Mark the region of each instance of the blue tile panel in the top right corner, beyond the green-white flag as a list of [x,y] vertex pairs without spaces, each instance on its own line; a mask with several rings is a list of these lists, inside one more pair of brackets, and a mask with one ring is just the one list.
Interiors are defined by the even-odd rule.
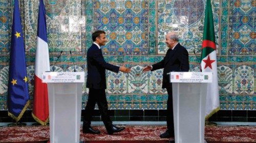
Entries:
[[230,1],[229,54],[255,55],[255,1]]

